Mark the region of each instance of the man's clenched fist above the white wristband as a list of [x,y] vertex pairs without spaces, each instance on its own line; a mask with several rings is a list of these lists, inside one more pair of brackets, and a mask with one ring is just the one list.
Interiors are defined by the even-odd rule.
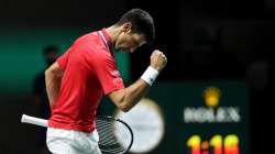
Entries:
[[151,55],[150,66],[161,72],[167,64],[167,57],[158,50],[155,50]]

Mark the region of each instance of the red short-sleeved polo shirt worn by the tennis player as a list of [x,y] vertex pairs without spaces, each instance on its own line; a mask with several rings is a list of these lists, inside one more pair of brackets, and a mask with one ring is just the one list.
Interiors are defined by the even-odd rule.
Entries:
[[103,29],[79,37],[57,59],[64,76],[52,107],[51,128],[95,130],[96,111],[102,96],[124,88],[109,47],[112,44]]

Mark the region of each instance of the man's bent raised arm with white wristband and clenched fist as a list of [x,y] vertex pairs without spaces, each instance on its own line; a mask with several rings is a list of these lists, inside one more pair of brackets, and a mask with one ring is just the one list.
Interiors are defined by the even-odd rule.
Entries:
[[147,94],[150,86],[153,84],[156,76],[162,72],[166,64],[166,56],[160,51],[154,51],[151,55],[150,67],[142,75],[142,77],[129,87],[111,92],[109,98],[122,111],[129,111],[140,101],[142,97]]

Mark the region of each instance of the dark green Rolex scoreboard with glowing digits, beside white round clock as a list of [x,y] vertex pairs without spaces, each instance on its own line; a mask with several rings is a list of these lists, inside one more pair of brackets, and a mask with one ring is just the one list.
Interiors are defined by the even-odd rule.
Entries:
[[165,116],[166,141],[155,153],[250,154],[244,81],[158,82],[148,97]]

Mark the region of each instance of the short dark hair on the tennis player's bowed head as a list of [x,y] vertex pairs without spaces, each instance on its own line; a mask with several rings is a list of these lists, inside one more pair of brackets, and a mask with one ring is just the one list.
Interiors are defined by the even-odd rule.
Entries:
[[122,25],[125,22],[131,22],[134,33],[144,34],[145,41],[152,44],[155,38],[155,25],[153,18],[144,10],[132,9],[124,13],[117,25]]

